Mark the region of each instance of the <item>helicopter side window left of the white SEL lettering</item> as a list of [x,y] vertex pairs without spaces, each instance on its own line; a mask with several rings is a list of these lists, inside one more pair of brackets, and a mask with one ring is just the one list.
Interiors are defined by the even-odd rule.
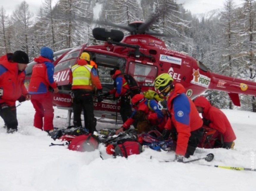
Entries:
[[157,67],[130,62],[128,73],[131,74],[141,86],[154,86],[154,80],[157,76]]

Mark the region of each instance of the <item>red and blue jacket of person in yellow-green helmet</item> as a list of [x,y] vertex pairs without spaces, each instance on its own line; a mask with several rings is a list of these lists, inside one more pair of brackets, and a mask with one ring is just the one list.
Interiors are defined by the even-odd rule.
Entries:
[[176,128],[178,137],[175,152],[185,156],[188,139],[191,135],[190,132],[201,128],[203,121],[197,112],[195,104],[185,94],[185,88],[182,84],[176,83],[174,85],[174,90],[168,96],[167,107],[171,116],[166,123],[165,129]]

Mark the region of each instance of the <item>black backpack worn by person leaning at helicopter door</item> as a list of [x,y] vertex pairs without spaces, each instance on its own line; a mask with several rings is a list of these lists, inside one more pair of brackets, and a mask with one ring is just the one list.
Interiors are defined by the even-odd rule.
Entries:
[[128,84],[128,86],[129,86],[129,90],[127,90],[127,93],[126,93],[127,95],[130,95],[132,98],[134,95],[141,93],[141,87],[138,84],[138,82],[132,77],[132,75],[127,74],[127,73],[121,73],[119,75],[124,76],[124,79],[126,81],[123,84],[123,86],[126,84]]

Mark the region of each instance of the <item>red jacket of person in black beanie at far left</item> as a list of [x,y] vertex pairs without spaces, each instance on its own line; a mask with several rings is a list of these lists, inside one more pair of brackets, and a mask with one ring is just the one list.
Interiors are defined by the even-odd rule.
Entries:
[[14,106],[21,95],[25,96],[28,92],[24,80],[25,71],[18,71],[18,63],[9,62],[7,55],[0,57],[0,88],[3,89],[0,103]]

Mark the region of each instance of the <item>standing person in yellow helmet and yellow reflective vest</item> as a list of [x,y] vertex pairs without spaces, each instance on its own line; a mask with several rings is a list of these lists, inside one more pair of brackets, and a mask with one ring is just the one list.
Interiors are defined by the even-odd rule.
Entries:
[[93,89],[97,88],[98,92],[102,92],[96,68],[90,65],[90,55],[83,52],[78,63],[71,67],[69,75],[72,84],[74,126],[82,127],[81,113],[84,112],[85,128],[89,129],[89,133],[96,131],[96,118],[93,114]]

